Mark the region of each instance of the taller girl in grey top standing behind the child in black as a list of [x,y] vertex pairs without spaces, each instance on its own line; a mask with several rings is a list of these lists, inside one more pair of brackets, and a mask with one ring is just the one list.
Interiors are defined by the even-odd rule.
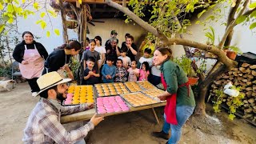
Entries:
[[94,68],[98,69],[98,66],[99,66],[98,60],[100,59],[100,56],[99,56],[99,53],[96,50],[94,50],[95,46],[96,46],[96,41],[94,39],[91,39],[90,49],[86,50],[82,55],[84,70],[86,70],[86,61],[89,57],[93,57],[95,59]]

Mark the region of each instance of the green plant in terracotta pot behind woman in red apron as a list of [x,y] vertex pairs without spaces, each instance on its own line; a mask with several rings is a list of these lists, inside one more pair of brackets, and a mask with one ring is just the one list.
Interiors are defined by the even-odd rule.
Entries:
[[[176,62],[179,66],[182,67],[184,72],[187,74],[187,77],[189,79],[190,85],[194,86],[198,82],[198,76],[197,73],[202,72],[202,70],[198,70],[197,73],[194,71],[192,67],[192,60],[190,58],[186,58],[186,56],[182,56],[182,58],[175,58],[174,62]],[[205,66],[205,63],[203,64]],[[199,66],[199,68],[202,66]]]

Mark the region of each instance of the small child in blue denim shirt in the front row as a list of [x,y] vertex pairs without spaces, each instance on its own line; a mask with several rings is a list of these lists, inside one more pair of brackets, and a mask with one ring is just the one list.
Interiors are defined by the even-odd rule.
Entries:
[[116,67],[113,64],[114,64],[114,58],[107,57],[106,64],[102,67],[102,78],[104,83],[114,82]]

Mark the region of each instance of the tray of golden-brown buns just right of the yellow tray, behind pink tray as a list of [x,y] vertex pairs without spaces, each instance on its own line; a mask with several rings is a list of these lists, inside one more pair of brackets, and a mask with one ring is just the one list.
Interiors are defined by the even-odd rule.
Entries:
[[129,93],[122,82],[100,83],[94,85],[94,87],[98,97]]

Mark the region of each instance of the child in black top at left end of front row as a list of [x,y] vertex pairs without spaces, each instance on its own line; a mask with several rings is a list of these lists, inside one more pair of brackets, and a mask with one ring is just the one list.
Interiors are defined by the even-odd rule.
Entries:
[[87,58],[86,61],[86,70],[83,72],[83,81],[82,85],[94,85],[98,83],[98,69],[94,67],[95,59],[94,57]]

